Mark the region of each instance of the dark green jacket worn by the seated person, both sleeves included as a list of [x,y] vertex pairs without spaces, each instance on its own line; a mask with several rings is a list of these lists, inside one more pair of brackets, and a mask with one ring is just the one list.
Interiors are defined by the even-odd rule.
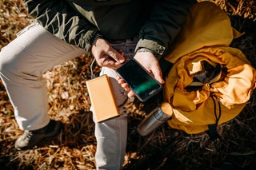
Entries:
[[87,51],[94,34],[107,41],[138,35],[136,50],[166,52],[195,0],[25,0],[46,30]]

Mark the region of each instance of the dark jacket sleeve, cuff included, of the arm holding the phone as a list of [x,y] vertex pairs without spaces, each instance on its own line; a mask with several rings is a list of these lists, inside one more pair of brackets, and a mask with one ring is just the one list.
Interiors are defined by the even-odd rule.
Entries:
[[167,53],[174,38],[182,30],[190,7],[196,0],[158,0],[151,10],[150,17],[139,32],[140,48],[150,49],[157,55]]

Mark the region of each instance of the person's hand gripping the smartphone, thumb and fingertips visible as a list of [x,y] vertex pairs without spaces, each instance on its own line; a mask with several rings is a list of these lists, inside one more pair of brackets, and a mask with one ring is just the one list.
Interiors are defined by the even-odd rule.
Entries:
[[[150,52],[138,52],[135,54],[134,59],[138,61],[154,78],[161,84],[165,81],[162,79],[162,72],[158,59]],[[134,92],[130,89],[129,85],[121,77],[117,78],[118,83],[128,92],[128,97],[134,97]]]

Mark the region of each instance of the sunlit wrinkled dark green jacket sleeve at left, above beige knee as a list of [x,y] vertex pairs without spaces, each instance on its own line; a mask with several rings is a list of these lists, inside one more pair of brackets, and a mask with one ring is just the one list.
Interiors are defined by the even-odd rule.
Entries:
[[25,0],[29,14],[51,34],[87,51],[98,29],[61,0]]

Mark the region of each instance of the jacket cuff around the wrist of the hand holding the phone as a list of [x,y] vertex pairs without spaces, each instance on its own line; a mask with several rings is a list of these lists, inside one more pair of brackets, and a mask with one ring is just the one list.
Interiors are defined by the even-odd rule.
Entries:
[[138,49],[149,49],[154,53],[155,57],[162,57],[162,54],[165,52],[165,47],[162,45],[159,45],[157,42],[154,42],[152,40],[147,39],[140,39],[136,45],[135,53],[138,51]]

